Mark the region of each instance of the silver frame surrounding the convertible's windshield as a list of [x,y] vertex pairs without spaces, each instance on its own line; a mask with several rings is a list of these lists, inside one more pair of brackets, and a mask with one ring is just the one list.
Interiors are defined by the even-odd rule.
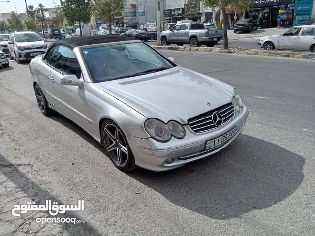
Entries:
[[[84,45],[84,46],[79,46],[79,53],[80,53],[80,56],[81,56],[81,59],[84,63],[84,66],[85,66],[85,70],[87,71],[88,75],[89,75],[89,79],[90,81],[93,83],[93,84],[96,84],[96,83],[102,83],[102,82],[109,82],[109,81],[113,81],[113,80],[121,80],[121,79],[130,79],[132,78],[132,76],[128,76],[126,78],[121,78],[121,79],[110,79],[110,80],[105,80],[105,81],[94,81],[93,79],[93,76],[91,75],[91,72],[90,72],[90,69],[87,65],[87,62],[86,62],[86,59],[83,55],[83,52],[82,52],[82,49],[90,49],[90,48],[97,48],[97,47],[104,47],[104,46],[114,46],[114,45],[125,45],[125,44],[131,44],[131,43],[141,43],[143,45],[145,45],[146,47],[149,47],[151,50],[153,50],[154,52],[156,52],[160,57],[162,57],[163,59],[165,59],[167,62],[169,62],[172,67],[171,68],[174,68],[177,66],[177,64],[175,64],[174,62],[170,61],[169,59],[167,59],[165,56],[163,56],[161,53],[158,52],[158,50],[150,47],[149,45],[145,44],[144,42],[142,41],[139,41],[139,40],[130,40],[130,41],[120,41],[120,42],[111,42],[111,43],[100,43],[100,44],[91,44],[91,45]],[[153,73],[153,72],[152,72]]]

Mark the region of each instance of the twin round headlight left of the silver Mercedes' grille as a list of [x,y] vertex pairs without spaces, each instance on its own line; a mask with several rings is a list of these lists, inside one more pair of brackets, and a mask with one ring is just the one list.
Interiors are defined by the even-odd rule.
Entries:
[[182,139],[186,134],[183,126],[176,121],[169,121],[167,124],[164,124],[157,119],[148,119],[144,123],[144,128],[153,139],[159,142],[168,142],[172,136]]

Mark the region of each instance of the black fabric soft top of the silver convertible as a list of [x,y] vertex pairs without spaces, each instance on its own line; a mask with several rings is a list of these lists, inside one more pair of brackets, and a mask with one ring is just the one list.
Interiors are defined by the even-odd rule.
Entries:
[[62,39],[60,41],[56,41],[52,43],[49,46],[47,52],[56,45],[63,45],[68,48],[74,49],[75,47],[84,46],[84,45],[113,43],[113,42],[130,41],[130,40],[134,40],[134,39],[124,37],[124,36],[118,36],[118,35],[96,35],[96,36],[66,38],[66,39]]

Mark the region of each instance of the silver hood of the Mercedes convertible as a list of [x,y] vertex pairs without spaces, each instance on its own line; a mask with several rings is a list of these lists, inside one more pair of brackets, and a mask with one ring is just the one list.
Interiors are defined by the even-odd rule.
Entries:
[[189,118],[231,102],[233,96],[232,86],[180,66],[95,86],[145,117],[165,123],[177,120],[186,124]]

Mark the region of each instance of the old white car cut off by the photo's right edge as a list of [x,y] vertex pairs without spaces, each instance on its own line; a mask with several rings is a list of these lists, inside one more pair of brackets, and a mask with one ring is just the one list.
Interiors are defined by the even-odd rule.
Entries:
[[315,25],[294,26],[284,34],[262,37],[258,45],[266,50],[299,50],[315,53]]

